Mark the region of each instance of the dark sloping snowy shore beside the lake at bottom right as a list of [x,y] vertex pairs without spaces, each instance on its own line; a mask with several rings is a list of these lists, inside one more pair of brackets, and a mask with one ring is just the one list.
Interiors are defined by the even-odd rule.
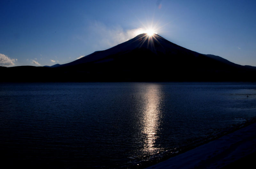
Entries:
[[[235,130],[235,131],[234,131]],[[149,166],[157,168],[222,168],[253,159],[256,153],[256,121],[252,119],[234,132]],[[247,158],[248,157],[248,158]]]

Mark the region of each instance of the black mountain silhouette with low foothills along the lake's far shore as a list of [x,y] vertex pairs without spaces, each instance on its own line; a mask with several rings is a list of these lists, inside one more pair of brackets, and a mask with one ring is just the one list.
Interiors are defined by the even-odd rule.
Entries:
[[255,68],[191,51],[157,34],[140,34],[67,64],[7,70],[40,75],[35,81],[255,81]]

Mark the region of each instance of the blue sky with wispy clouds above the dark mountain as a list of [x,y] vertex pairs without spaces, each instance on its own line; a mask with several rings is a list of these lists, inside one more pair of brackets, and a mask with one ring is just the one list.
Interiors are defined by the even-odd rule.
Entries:
[[190,50],[256,66],[256,1],[0,1],[0,66],[64,64],[153,25]]

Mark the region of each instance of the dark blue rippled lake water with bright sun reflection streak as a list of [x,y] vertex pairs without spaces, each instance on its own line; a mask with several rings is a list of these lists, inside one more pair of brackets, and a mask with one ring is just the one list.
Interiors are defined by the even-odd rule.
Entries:
[[255,83],[2,83],[1,160],[147,166],[255,116]]

